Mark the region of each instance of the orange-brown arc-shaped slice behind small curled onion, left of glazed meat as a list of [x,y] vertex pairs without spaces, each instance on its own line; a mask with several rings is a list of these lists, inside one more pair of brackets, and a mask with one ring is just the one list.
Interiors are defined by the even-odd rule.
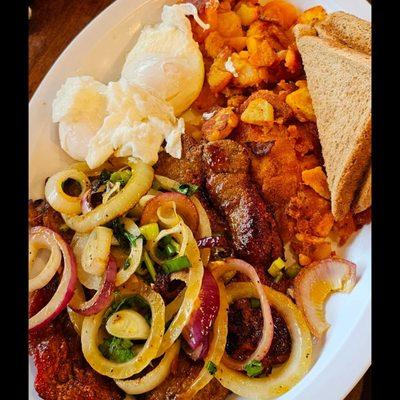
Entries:
[[175,202],[177,213],[183,218],[192,232],[196,233],[199,226],[199,214],[189,197],[175,192],[162,193],[151,199],[144,207],[140,225],[157,222],[157,210],[166,202]]

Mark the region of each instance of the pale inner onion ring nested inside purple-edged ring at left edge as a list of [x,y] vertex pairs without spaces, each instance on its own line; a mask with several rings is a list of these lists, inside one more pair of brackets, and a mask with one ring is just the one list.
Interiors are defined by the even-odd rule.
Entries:
[[46,265],[34,278],[29,279],[29,292],[46,286],[61,265],[61,251],[54,235],[48,230],[31,231],[29,235],[29,269],[32,268],[40,249],[50,251]]

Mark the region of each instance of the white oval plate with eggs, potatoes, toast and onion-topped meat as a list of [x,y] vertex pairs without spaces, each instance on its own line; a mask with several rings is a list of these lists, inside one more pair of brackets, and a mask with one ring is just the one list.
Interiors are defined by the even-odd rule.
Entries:
[[370,5],[117,0],[29,104],[30,399],[341,400],[371,363]]

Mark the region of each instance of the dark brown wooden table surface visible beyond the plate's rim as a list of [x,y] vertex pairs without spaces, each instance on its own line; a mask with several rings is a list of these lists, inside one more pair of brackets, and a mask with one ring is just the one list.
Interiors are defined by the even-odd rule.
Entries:
[[[71,40],[113,1],[31,0],[29,2],[32,9],[29,22],[29,98]],[[346,400],[370,399],[369,370]]]

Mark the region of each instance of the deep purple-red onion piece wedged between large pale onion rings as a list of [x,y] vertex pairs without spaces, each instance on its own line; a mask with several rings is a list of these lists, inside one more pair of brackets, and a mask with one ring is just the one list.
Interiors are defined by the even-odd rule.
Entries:
[[193,359],[204,358],[209,347],[209,336],[219,310],[219,290],[211,272],[205,268],[199,293],[199,307],[192,312],[182,335],[191,348]]

